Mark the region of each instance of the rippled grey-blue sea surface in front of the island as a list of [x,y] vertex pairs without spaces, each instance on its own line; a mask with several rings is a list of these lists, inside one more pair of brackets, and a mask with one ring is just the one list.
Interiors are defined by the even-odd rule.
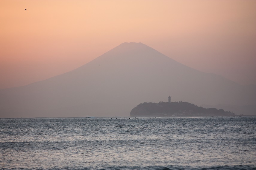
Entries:
[[256,169],[256,118],[1,118],[0,169]]

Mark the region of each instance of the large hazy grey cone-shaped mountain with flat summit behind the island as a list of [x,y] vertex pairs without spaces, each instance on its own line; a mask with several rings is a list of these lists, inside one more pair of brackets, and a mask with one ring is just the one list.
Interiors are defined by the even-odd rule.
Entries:
[[187,67],[142,43],[122,43],[70,72],[0,90],[1,117],[129,116],[138,103],[255,105],[255,88]]

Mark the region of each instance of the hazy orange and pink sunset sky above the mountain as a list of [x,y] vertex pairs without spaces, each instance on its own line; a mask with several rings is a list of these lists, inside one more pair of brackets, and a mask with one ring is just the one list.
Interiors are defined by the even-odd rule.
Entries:
[[0,89],[71,71],[123,42],[256,84],[254,0],[1,0],[0,24]]

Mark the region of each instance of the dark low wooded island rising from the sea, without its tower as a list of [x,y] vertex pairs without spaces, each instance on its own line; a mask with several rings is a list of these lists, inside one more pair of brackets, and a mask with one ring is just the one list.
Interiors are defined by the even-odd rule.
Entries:
[[196,106],[188,102],[141,103],[131,110],[131,116],[231,116],[223,109]]

